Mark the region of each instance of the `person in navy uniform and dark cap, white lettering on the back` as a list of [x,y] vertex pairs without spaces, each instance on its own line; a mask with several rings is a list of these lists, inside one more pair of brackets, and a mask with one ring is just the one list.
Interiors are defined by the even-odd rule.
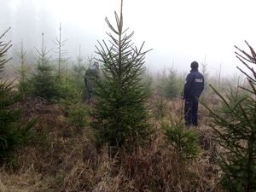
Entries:
[[198,72],[198,62],[191,63],[191,71],[186,78],[183,90],[183,99],[185,101],[185,125],[197,126],[198,99],[204,89],[204,77]]

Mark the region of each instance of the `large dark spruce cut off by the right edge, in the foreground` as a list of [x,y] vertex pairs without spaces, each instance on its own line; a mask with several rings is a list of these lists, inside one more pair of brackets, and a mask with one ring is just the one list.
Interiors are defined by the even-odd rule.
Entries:
[[223,174],[221,183],[227,191],[256,191],[256,54],[247,44],[251,54],[244,50],[236,52],[237,58],[247,67],[249,73],[237,67],[247,76],[249,88],[240,87],[240,93],[231,91],[222,96],[218,94],[222,107],[214,112],[210,108],[216,132],[216,141],[223,148],[219,151],[219,166]]

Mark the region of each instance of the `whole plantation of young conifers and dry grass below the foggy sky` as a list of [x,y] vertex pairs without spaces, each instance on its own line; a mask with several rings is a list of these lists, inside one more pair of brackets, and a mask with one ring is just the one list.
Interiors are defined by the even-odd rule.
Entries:
[[154,47],[136,46],[124,8],[106,17],[107,38],[90,56],[80,44],[67,52],[65,25],[53,45],[39,32],[33,53],[26,41],[13,51],[15,29],[0,32],[0,192],[255,192],[253,43],[235,47],[238,79],[201,64],[207,89],[199,125],[188,127],[185,75],[150,71]]

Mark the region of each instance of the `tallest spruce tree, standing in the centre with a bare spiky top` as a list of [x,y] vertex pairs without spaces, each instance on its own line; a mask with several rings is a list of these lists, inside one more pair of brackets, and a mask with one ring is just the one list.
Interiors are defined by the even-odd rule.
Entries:
[[123,29],[123,1],[120,15],[115,12],[116,27],[106,18],[110,45],[102,40],[96,46],[101,56],[102,79],[96,82],[97,101],[91,115],[92,127],[96,130],[96,141],[108,143],[112,148],[132,150],[145,141],[150,132],[148,106],[150,90],[143,84],[145,73],[143,44],[138,49],[131,44],[134,32],[126,34]]

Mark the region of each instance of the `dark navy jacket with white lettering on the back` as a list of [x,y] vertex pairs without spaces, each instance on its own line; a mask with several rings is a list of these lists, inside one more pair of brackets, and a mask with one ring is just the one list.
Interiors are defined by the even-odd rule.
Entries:
[[186,78],[183,90],[183,98],[199,98],[204,89],[204,76],[197,69],[192,69]]

